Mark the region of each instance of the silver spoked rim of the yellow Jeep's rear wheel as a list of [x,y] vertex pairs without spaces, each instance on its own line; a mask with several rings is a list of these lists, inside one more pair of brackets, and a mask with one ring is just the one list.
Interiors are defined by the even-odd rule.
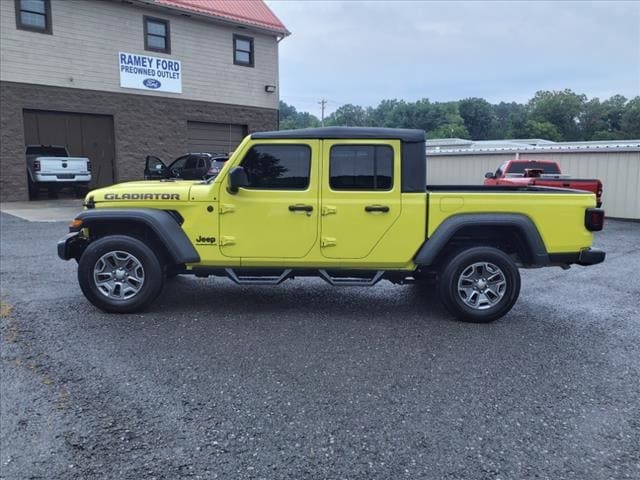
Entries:
[[458,277],[458,296],[474,310],[486,310],[504,298],[507,278],[495,264],[476,262],[466,267]]

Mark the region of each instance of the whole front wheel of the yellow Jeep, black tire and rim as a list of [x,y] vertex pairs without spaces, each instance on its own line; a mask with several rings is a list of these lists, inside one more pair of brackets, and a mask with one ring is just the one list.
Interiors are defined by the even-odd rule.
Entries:
[[[109,256],[110,253],[111,256]],[[121,262],[124,262],[127,259],[126,255],[128,255],[130,257],[129,266],[110,266],[116,265],[113,259],[114,255],[119,257],[117,260]],[[109,272],[97,273],[98,276],[103,277],[111,275],[111,278],[114,279],[112,283],[115,285],[113,289],[110,285],[104,285],[108,282],[103,283],[102,289],[96,284],[94,269],[100,268],[100,266],[102,266],[102,270],[116,269],[114,270],[117,271],[115,275]],[[142,271],[138,269],[139,267],[142,268]],[[131,268],[131,272],[135,270],[137,274],[132,273],[132,276],[129,277],[129,268]],[[125,277],[121,280],[125,281],[117,279],[116,275],[120,274]],[[134,283],[131,283],[135,275],[141,276],[143,280],[139,282],[136,279]],[[164,271],[159,256],[137,238],[127,235],[109,235],[91,242],[82,253],[78,262],[78,282],[85,297],[100,310],[111,313],[131,313],[145,309],[160,294],[164,285]],[[119,287],[118,282],[120,283]],[[136,288],[138,290],[131,294],[131,291]],[[127,289],[131,294],[129,297],[126,296]],[[110,290],[110,292],[105,290]],[[121,298],[113,298],[110,295],[112,292]]]

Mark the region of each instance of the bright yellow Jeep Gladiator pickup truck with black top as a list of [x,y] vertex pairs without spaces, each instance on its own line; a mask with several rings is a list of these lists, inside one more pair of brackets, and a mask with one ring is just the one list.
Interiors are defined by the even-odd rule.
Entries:
[[[422,130],[328,127],[253,133],[219,175],[90,192],[58,242],[84,295],[144,309],[177,274],[276,285],[436,281],[456,317],[489,322],[520,292],[519,268],[593,265],[604,212],[592,193],[428,186]],[[425,287],[430,288],[430,287]]]

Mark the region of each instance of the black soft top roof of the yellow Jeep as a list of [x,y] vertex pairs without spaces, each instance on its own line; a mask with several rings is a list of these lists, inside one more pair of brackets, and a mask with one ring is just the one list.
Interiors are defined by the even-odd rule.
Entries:
[[320,139],[383,139],[390,138],[403,142],[418,143],[425,141],[424,130],[409,128],[377,128],[377,127],[321,127],[302,128],[299,130],[280,130],[275,132],[256,132],[252,139],[287,139],[287,138],[320,138]]

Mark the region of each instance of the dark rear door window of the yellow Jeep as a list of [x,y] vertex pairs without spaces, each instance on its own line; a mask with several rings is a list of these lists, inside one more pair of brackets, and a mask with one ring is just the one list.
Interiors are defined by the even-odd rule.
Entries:
[[333,190],[391,190],[393,148],[388,145],[336,145],[329,158]]

